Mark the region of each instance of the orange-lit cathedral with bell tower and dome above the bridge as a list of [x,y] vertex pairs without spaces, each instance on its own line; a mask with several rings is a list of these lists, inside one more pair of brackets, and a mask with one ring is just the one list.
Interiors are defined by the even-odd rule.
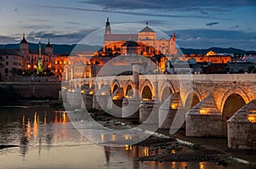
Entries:
[[170,39],[157,39],[156,32],[147,25],[137,34],[117,34],[111,31],[109,20],[106,22],[103,54],[139,54],[166,57],[177,54],[176,33]]

